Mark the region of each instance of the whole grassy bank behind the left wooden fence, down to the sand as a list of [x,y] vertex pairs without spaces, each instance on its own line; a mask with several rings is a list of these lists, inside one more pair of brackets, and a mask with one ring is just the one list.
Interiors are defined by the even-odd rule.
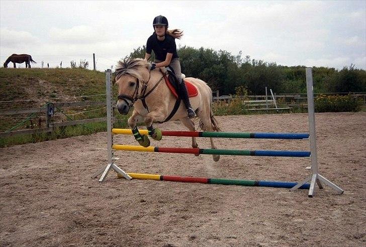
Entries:
[[[105,101],[105,73],[81,68],[6,69],[0,68],[0,110],[39,108],[47,102]],[[97,95],[92,96],[90,95]],[[53,122],[100,118],[106,116],[104,105],[55,109]],[[116,116],[116,127],[126,127],[127,116]],[[0,132],[47,127],[45,112],[0,115]],[[64,126],[51,133],[17,135],[0,138],[0,147],[37,142],[106,130],[105,122]]]

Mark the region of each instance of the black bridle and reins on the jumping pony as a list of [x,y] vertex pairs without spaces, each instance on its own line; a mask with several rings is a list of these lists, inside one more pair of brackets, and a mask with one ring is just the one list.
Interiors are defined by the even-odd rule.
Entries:
[[[159,79],[159,81],[154,85],[154,87],[146,93],[146,89],[147,89],[147,83],[150,81],[150,78],[151,78],[151,71],[149,71],[149,79],[145,82],[143,81],[142,82],[142,89],[141,89],[141,93],[139,94],[139,86],[140,86],[140,80],[138,78],[136,78],[137,82],[136,82],[136,87],[135,87],[135,91],[133,92],[132,94],[132,97],[126,95],[126,94],[120,94],[117,96],[117,98],[119,100],[123,100],[129,108],[131,108],[135,102],[137,100],[141,100],[142,101],[142,104],[143,106],[145,107],[145,109],[147,111],[149,111],[147,105],[146,105],[146,101],[145,101],[145,98],[151,94],[151,92],[159,85],[159,83],[161,82],[161,80],[163,79],[163,76],[161,76],[161,78]],[[136,94],[136,96],[135,96]]]

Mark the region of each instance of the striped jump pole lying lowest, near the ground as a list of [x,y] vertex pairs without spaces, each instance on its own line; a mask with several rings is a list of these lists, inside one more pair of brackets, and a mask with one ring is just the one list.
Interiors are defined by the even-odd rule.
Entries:
[[[264,181],[264,180],[244,180],[244,179],[226,179],[226,178],[207,178],[207,177],[182,177],[182,176],[168,176],[159,174],[144,174],[144,173],[127,173],[134,179],[149,179],[172,182],[186,182],[186,183],[210,183],[210,184],[226,184],[226,185],[242,185],[242,186],[261,186],[261,187],[276,187],[276,188],[292,188],[298,183],[283,182],[283,181]],[[118,174],[119,177],[122,175]],[[309,189],[310,184],[306,183],[299,187],[299,189]]]

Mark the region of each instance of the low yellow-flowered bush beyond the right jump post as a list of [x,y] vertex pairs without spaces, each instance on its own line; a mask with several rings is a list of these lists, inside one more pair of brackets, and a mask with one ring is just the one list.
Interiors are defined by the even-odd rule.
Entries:
[[362,99],[357,99],[351,94],[319,95],[314,100],[315,112],[356,112],[362,107]]

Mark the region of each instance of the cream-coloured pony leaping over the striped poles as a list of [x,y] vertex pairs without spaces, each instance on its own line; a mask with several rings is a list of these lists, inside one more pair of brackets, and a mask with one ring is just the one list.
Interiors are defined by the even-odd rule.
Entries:
[[[153,122],[180,120],[190,131],[196,131],[195,123],[188,118],[187,109],[182,101],[173,112],[176,98],[166,85],[163,74],[159,68],[149,70],[150,64],[142,59],[120,61],[116,67],[116,83],[118,85],[117,109],[120,114],[127,114],[132,106],[134,110],[128,119],[135,139],[142,146],[149,146],[150,141],[146,135],[139,134],[136,123],[145,123],[149,136],[155,140],[161,139],[161,130],[153,128]],[[212,113],[212,91],[202,80],[186,78],[198,91],[197,96],[191,97],[191,105],[200,118],[200,128],[203,131],[219,131],[220,128]],[[178,105],[179,104],[179,105]],[[213,139],[210,138],[211,148],[216,149]],[[197,148],[196,138],[192,137],[192,147]],[[213,155],[214,161],[220,159]]]

